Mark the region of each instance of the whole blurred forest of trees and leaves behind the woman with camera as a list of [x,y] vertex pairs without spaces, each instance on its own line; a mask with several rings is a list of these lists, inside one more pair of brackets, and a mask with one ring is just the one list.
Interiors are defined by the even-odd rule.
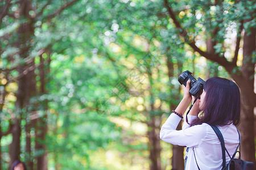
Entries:
[[[184,169],[177,77],[233,79],[255,164],[255,1],[1,0],[0,169]],[[180,128],[180,125],[179,127]]]

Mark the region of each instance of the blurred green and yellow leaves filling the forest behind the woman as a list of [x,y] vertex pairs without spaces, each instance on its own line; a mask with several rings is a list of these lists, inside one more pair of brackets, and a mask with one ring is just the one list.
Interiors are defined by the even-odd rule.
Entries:
[[[34,10],[30,15],[39,14],[43,9],[42,15],[32,19],[6,15],[0,24],[3,39],[0,90],[8,93],[5,103],[1,103],[2,131],[8,129],[12,116],[17,114],[18,67],[26,65],[30,59],[36,65],[32,71],[36,74],[38,92],[28,100],[22,112],[20,157],[23,160],[28,157],[24,128],[26,122],[31,121],[30,112],[36,110],[40,118],[46,116],[43,120],[47,122],[48,131],[45,141],[40,142],[47,148],[49,168],[120,169],[121,163],[115,167],[114,161],[107,162],[110,160],[104,155],[108,151],[113,151],[115,156],[122,155],[120,162],[126,157],[130,159],[131,162],[121,169],[135,166],[142,169],[141,162],[148,167],[147,132],[151,129],[148,122],[156,117],[160,126],[162,115],[166,118],[173,109],[170,105],[179,103],[177,76],[181,71],[191,70],[195,77],[205,79],[208,70],[210,76],[214,76],[217,68],[218,75],[228,76],[221,66],[206,62],[185,46],[162,1],[81,0],[53,18],[49,16],[63,1],[51,1],[47,6],[48,1],[31,2]],[[218,42],[214,46],[216,53],[224,53],[221,47],[230,27],[230,32],[234,32],[233,28],[237,28],[241,20],[255,15],[245,14],[255,5],[244,1],[224,1],[219,5],[195,0],[170,3],[179,14],[177,19],[182,20],[183,27],[191,33],[188,36],[200,37],[200,48],[205,48],[203,40],[207,39],[203,33],[210,35],[218,29],[214,37]],[[10,14],[16,14],[19,8],[14,3]],[[253,21],[244,27],[255,27]],[[17,46],[20,26],[30,22],[34,29],[26,43]],[[28,47],[27,52],[19,54],[23,47]],[[39,92],[42,82],[38,68],[42,50],[45,50],[43,65],[49,69],[49,73],[45,70],[47,83],[43,94]],[[167,66],[168,62],[172,63],[172,68]],[[173,71],[172,77],[168,76],[169,71]],[[4,83],[4,79],[8,81]],[[7,84],[13,88],[8,90]],[[35,129],[31,129],[30,134],[35,143]],[[10,135],[1,139],[3,155],[8,155],[10,141]],[[41,150],[32,150],[34,163],[38,155],[42,155]],[[106,159],[100,167],[95,163],[95,156]],[[136,160],[141,162],[133,165]],[[7,167],[9,156],[1,161],[3,167]]]

